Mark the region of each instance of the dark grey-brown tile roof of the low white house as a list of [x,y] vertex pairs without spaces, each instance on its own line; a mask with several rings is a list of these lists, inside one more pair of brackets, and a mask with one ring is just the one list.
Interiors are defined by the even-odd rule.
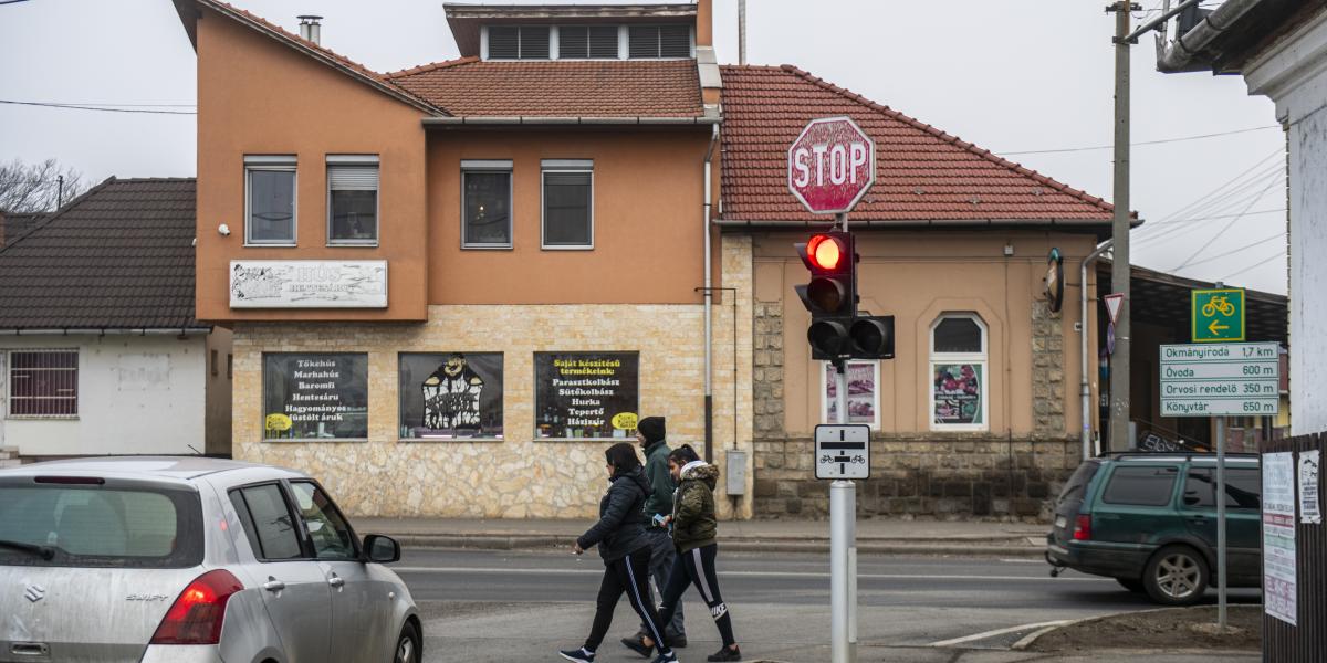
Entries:
[[203,326],[194,224],[194,179],[102,182],[0,249],[0,329]]

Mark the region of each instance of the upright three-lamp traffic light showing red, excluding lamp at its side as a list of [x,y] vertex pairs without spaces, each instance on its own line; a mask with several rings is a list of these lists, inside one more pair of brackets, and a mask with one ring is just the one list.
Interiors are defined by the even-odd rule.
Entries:
[[811,358],[847,358],[852,350],[848,333],[857,312],[857,255],[852,235],[821,232],[796,248],[811,271],[811,281],[796,286],[802,304],[811,312],[807,329]]

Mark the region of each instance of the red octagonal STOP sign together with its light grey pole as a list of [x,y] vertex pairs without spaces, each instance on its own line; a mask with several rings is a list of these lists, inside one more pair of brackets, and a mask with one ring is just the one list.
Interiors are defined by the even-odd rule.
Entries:
[[[811,213],[835,215],[848,232],[848,212],[876,182],[876,142],[852,118],[817,118],[788,146],[788,191]],[[849,256],[856,260],[856,256]],[[856,302],[852,302],[856,312]],[[848,373],[835,361],[839,428],[848,423]],[[863,444],[869,447],[868,427]],[[860,435],[860,432],[855,434]],[[845,443],[840,440],[841,443]],[[819,447],[819,427],[817,427]],[[863,452],[863,457],[867,453]],[[816,461],[820,453],[817,448]],[[847,472],[848,463],[843,463]],[[865,469],[869,472],[869,463]],[[820,465],[816,465],[820,476]],[[829,484],[829,622],[832,663],[857,660],[857,485],[840,472]]]

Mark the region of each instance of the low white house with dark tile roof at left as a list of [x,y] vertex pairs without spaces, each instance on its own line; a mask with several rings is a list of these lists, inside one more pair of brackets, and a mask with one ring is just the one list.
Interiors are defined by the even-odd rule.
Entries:
[[0,249],[0,450],[230,453],[230,333],[194,318],[194,180],[109,179]]

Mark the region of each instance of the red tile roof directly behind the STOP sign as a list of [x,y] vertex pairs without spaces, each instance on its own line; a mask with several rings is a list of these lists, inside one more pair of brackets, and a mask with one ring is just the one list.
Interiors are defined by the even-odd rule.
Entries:
[[723,221],[823,223],[787,188],[788,146],[808,121],[849,115],[876,141],[859,221],[1108,224],[1109,203],[1005,160],[790,65],[723,66]]

